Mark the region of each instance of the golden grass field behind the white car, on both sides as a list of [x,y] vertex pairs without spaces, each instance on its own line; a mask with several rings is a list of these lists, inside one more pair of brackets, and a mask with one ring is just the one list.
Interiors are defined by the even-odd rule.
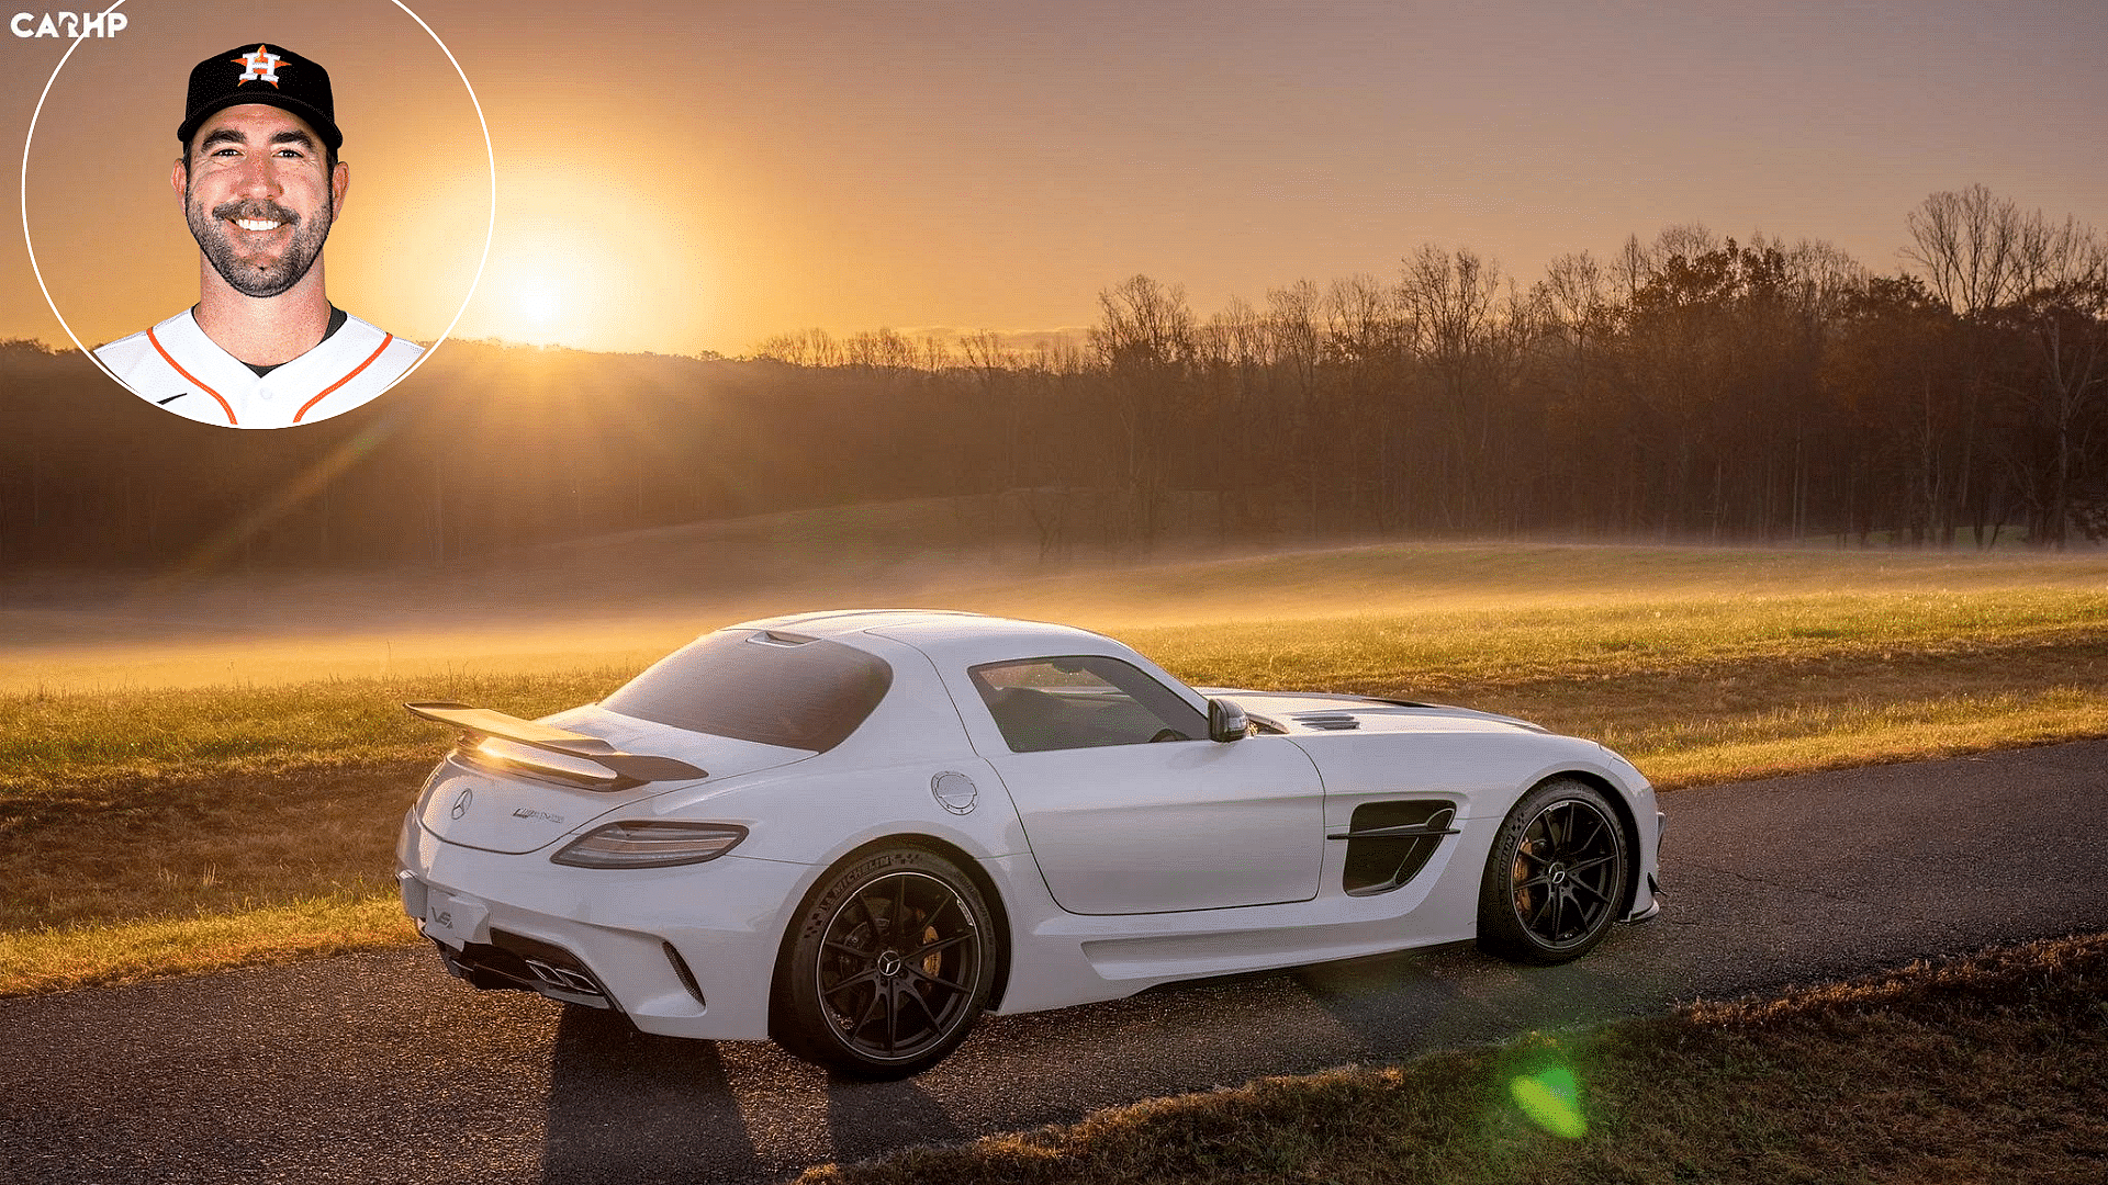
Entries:
[[[2104,557],[1385,546],[919,599],[1100,628],[1197,685],[1537,719],[1665,789],[2108,736]],[[544,715],[727,620],[11,652],[0,993],[407,940],[390,852],[447,736],[401,702]]]

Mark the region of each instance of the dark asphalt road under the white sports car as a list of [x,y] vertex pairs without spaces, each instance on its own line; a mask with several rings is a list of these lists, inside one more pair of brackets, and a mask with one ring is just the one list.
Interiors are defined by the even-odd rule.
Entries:
[[0,1002],[0,1183],[772,1181],[1528,1029],[2108,930],[2108,740],[1665,795],[1667,905],[1564,968],[1471,951],[997,1016],[921,1077],[647,1037],[430,951]]

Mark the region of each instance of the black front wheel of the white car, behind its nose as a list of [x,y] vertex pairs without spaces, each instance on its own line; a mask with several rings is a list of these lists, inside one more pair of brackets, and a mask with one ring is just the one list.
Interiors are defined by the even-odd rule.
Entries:
[[1602,791],[1554,778],[1522,795],[1492,837],[1478,947],[1518,964],[1579,959],[1625,902],[1632,846]]

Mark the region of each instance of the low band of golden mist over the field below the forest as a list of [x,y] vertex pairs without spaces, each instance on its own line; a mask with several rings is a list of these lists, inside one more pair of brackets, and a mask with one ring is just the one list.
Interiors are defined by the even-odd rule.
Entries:
[[[1164,548],[1046,561],[978,502],[767,514],[447,565],[0,582],[0,694],[635,671],[738,620],[835,607],[1027,616],[1126,635],[1404,616],[1429,628],[1646,605],[2108,582],[2095,548],[1703,548],[1562,542]],[[961,529],[961,523],[978,529]],[[1657,611],[1659,616],[1659,611]]]

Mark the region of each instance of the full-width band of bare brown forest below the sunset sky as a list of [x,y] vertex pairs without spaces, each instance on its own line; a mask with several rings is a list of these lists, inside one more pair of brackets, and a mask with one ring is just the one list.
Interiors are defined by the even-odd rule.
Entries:
[[278,432],[167,415],[0,344],[0,569],[449,561],[706,519],[963,498],[1043,557],[1172,540],[1570,538],[2066,548],[2108,536],[2108,240],[1982,186],[1904,266],[1676,226],[1503,274],[1199,312],[1098,293],[1084,335],[784,333],[753,356],[449,342]]

